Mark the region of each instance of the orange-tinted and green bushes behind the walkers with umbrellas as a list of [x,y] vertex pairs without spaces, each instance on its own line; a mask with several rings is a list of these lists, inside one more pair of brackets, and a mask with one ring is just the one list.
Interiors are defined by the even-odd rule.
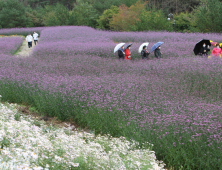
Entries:
[[138,1],[129,8],[120,6],[119,12],[110,19],[110,28],[116,31],[173,30],[162,10],[147,11],[145,5]]

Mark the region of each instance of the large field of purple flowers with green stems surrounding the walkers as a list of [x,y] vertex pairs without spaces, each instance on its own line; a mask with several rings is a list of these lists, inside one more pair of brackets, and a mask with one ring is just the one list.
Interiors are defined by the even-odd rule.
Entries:
[[[95,133],[152,143],[168,168],[222,169],[222,60],[193,54],[200,39],[222,42],[222,35],[35,29],[0,30],[35,30],[41,37],[29,58],[12,55],[22,39],[0,38],[2,100],[32,105]],[[146,41],[149,49],[164,42],[163,59],[140,60],[137,50]],[[113,54],[118,42],[133,43],[132,61]]]

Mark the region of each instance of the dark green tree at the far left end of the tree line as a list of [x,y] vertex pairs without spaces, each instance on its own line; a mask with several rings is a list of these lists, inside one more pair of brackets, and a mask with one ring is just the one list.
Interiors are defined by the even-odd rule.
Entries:
[[30,26],[26,8],[18,0],[0,1],[0,21],[1,28]]

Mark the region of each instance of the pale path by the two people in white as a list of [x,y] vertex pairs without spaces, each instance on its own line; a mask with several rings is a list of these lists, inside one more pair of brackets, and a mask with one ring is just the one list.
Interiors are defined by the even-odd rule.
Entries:
[[[37,43],[38,44],[38,43]],[[36,44],[36,45],[37,45]],[[35,43],[32,41],[32,47],[28,47],[28,42],[24,39],[22,46],[18,49],[17,53],[15,54],[17,57],[26,58],[32,54],[32,50],[35,48]]]

